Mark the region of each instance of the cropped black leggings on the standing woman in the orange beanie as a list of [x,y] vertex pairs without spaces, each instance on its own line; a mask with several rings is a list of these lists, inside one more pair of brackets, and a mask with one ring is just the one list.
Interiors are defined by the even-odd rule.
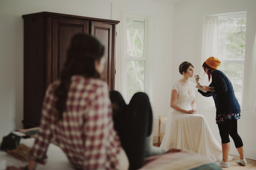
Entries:
[[234,140],[236,148],[243,146],[241,137],[237,133],[237,120],[225,120],[218,123],[219,134],[221,135],[221,143],[229,143],[229,135]]

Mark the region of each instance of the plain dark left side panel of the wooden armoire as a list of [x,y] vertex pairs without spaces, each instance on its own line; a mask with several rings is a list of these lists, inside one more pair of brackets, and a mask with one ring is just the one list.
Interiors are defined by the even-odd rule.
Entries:
[[39,124],[44,98],[44,18],[25,19],[24,26],[24,119]]

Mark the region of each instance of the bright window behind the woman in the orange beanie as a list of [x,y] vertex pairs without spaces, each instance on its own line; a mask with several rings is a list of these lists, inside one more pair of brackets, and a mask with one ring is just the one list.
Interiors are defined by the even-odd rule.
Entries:
[[245,58],[246,13],[222,15],[218,19],[218,67],[232,82],[242,105]]

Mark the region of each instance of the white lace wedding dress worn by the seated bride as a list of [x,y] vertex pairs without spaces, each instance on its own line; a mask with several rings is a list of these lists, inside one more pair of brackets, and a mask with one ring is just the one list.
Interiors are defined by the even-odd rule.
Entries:
[[[172,90],[177,90],[176,104],[185,110],[191,110],[191,101],[195,98],[195,84],[191,84],[191,94],[180,82],[175,82]],[[160,148],[179,148],[190,150],[217,161],[222,157],[221,145],[214,138],[203,115],[189,114],[170,108]]]

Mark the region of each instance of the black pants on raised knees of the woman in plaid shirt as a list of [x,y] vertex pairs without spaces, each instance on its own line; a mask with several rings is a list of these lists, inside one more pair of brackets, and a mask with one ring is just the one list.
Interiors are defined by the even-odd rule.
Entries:
[[145,159],[146,137],[151,134],[153,113],[146,93],[135,93],[127,105],[117,91],[110,92],[112,104],[118,107],[114,113],[114,128],[129,159],[129,170],[139,169]]

